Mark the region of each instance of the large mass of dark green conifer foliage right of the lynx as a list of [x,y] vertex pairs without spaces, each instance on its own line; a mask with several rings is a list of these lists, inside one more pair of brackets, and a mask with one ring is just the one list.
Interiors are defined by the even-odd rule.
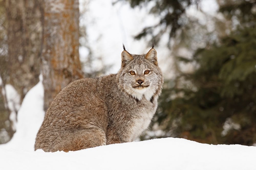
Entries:
[[223,38],[221,45],[197,50],[191,60],[179,57],[197,63],[197,69],[181,75],[183,85],[163,90],[160,124],[175,136],[199,142],[255,143],[255,47],[256,29],[245,28]]

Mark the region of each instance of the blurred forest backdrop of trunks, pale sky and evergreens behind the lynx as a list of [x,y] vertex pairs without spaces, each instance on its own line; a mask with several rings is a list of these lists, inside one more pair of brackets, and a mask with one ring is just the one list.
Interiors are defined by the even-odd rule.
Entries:
[[71,81],[116,72],[122,41],[142,53],[154,39],[165,84],[141,140],[256,144],[256,0],[108,0],[110,9],[138,13],[119,18],[132,39],[108,35],[104,41],[103,32],[92,41],[99,30],[92,22],[108,15],[101,2],[0,0],[0,143],[15,133],[19,106],[40,74],[46,110]]

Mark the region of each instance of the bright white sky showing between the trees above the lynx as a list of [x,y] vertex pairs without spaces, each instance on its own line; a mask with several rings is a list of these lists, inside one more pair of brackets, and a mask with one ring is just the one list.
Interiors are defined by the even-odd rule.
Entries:
[[[80,19],[80,24],[85,25],[88,34],[88,43],[90,44],[94,56],[102,56],[104,64],[113,65],[107,73],[116,73],[120,68],[120,55],[123,51],[124,43],[126,50],[132,54],[147,53],[151,46],[147,46],[148,40],[142,38],[135,40],[133,37],[141,32],[146,26],[153,26],[159,21],[159,18],[148,14],[150,7],[154,2],[149,3],[147,7],[131,8],[129,3],[121,1],[112,5],[116,0],[80,0],[80,10],[87,9],[85,16]],[[84,4],[88,5],[84,5]],[[215,0],[202,0],[201,9],[210,15],[215,15],[218,5]],[[204,22],[206,18],[202,13],[191,7],[188,15],[196,16]],[[205,21],[207,22],[207,21]],[[163,36],[158,46],[155,46],[158,54],[158,62],[166,78],[173,77],[174,72],[170,71],[172,67],[172,57],[166,44],[168,36]],[[81,61],[84,61],[88,51],[80,47]],[[101,63],[94,62],[94,67],[100,68]]]

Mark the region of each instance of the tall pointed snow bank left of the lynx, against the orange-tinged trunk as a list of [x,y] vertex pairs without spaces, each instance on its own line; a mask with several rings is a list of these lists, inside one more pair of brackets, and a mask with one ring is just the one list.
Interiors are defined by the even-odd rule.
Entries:
[[44,90],[42,74],[39,83],[26,94],[18,111],[16,133],[11,141],[3,144],[5,148],[30,150],[34,149],[35,136],[43,122]]

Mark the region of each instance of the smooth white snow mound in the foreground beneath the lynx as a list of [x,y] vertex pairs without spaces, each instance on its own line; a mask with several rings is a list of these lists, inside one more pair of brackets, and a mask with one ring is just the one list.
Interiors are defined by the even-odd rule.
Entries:
[[255,169],[256,147],[208,145],[180,138],[46,153],[0,148],[1,169]]

